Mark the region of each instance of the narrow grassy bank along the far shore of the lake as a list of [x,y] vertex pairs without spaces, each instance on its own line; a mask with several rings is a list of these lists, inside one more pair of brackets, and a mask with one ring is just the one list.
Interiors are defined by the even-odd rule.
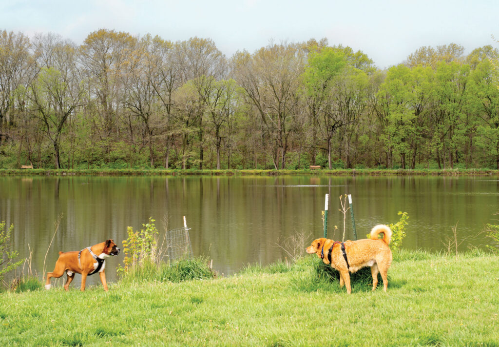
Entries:
[[472,169],[296,169],[296,170],[181,170],[181,169],[0,169],[0,175],[423,175],[423,176],[456,176],[456,175],[499,175],[499,170],[487,168]]

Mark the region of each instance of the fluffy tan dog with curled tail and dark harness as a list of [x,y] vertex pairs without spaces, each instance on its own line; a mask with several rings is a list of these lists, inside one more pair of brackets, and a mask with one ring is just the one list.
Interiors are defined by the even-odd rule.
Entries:
[[[383,233],[383,238],[378,235]],[[383,289],[388,286],[387,272],[392,263],[392,251],[388,244],[392,230],[383,224],[376,225],[371,230],[371,238],[356,241],[347,240],[342,243],[328,238],[317,238],[307,247],[307,253],[317,254],[326,264],[340,272],[340,286],[346,285],[347,293],[351,293],[350,273],[366,266],[371,267],[373,289],[378,285],[378,272],[383,278]]]

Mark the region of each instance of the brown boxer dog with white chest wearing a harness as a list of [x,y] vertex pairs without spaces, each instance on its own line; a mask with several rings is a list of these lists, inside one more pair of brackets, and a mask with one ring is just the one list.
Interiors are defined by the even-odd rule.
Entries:
[[106,274],[104,273],[105,259],[109,255],[118,255],[119,252],[120,249],[111,239],[83,248],[80,251],[59,252],[59,258],[55,262],[54,270],[47,273],[45,289],[50,289],[51,277],[59,278],[66,272],[67,280],[64,289],[68,291],[69,283],[73,280],[74,274],[80,273],[81,291],[83,291],[85,290],[87,276],[99,272],[104,290],[107,291]]

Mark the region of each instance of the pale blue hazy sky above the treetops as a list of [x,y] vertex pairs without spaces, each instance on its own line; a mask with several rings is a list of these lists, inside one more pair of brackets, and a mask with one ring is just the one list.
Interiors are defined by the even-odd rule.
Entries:
[[211,38],[228,57],[273,42],[325,37],[362,50],[376,66],[422,46],[457,43],[465,53],[499,37],[497,0],[0,0],[0,30],[53,32],[81,44],[98,29],[171,41]]

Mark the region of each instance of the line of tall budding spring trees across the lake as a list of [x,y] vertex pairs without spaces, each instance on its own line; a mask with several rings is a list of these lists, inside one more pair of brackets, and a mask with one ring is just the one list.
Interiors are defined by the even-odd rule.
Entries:
[[498,50],[388,69],[326,39],[225,56],[100,29],[0,31],[0,167],[499,169]]

